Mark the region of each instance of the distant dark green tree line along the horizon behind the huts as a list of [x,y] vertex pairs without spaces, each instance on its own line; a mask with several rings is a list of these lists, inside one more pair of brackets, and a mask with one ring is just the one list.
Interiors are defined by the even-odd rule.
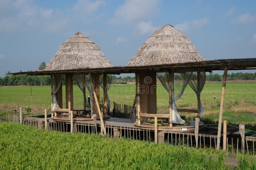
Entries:
[[[38,69],[43,70],[46,67],[45,62],[42,62]],[[20,72],[22,72],[20,70]],[[10,72],[8,72],[10,74]],[[117,77],[116,75],[108,75],[111,83],[119,83],[123,81],[135,82],[135,76],[126,76]],[[182,79],[181,75],[175,75],[175,79]],[[178,77],[177,77],[178,76]],[[212,74],[206,75],[206,81],[221,81],[222,75],[220,74]],[[228,80],[256,80],[256,73],[231,73],[227,75]],[[62,84],[65,84],[65,75],[62,77]],[[75,82],[74,82],[75,84]],[[0,77],[0,86],[43,86],[43,85],[51,85],[51,76],[50,75],[6,75],[5,77]]]

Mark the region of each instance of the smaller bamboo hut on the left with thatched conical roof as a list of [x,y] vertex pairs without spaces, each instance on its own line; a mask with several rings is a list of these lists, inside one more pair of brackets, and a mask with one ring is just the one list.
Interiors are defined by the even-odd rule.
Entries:
[[[47,64],[43,71],[53,72],[59,71],[59,74],[51,74],[52,81],[52,117],[53,112],[55,117],[57,117],[58,111],[63,116],[63,112],[68,112],[68,118],[70,119],[71,110],[73,108],[73,77],[79,76],[82,85],[81,90],[84,95],[84,108],[91,107],[86,104],[86,90],[92,89],[91,102],[92,102],[92,113],[101,115],[99,111],[98,101],[100,100],[99,93],[99,76],[100,73],[89,73],[89,78],[91,81],[90,89],[85,88],[85,74],[79,73],[74,74],[72,70],[74,69],[89,69],[89,68],[104,68],[113,67],[111,62],[104,56],[104,53],[100,50],[91,39],[86,37],[82,32],[77,32],[63,44],[60,45],[59,51],[55,54],[54,58]],[[66,108],[63,108],[62,104],[62,71],[69,70],[65,73],[65,85],[66,85]],[[88,74],[88,73],[87,73]],[[106,74],[104,74],[104,86],[106,86]],[[96,95],[94,95],[94,93]],[[106,91],[104,91],[104,111],[106,112]],[[78,109],[74,111],[79,111]],[[80,112],[80,111],[79,111]],[[78,113],[79,114],[79,113]]]

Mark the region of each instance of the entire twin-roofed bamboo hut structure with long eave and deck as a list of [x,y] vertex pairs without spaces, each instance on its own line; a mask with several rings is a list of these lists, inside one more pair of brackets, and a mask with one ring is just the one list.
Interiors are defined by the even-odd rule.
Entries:
[[[97,46],[91,39],[84,36],[84,34],[78,32],[64,42],[59,51],[55,54],[54,58],[47,64],[44,70],[36,70],[29,72],[17,72],[11,73],[12,75],[28,74],[28,75],[51,75],[51,94],[52,94],[52,118],[47,120],[47,115],[45,116],[45,122],[51,121],[55,124],[63,122],[63,119],[54,119],[57,116],[57,112],[68,113],[68,118],[66,118],[66,124],[72,124],[70,131],[73,131],[73,78],[77,75],[84,79],[85,75],[89,75],[89,80],[91,83],[90,88],[92,89],[92,110],[94,113],[99,115],[99,124],[95,123],[95,126],[100,126],[106,134],[106,127],[110,132],[108,134],[112,136],[112,130],[114,135],[122,137],[128,137],[128,129],[130,130],[131,138],[131,128],[133,130],[133,135],[137,131],[139,133],[139,139],[143,131],[146,131],[147,139],[150,132],[155,132],[155,142],[158,142],[158,131],[167,132],[171,131],[175,134],[182,134],[184,136],[184,131],[187,135],[191,133],[182,130],[178,130],[179,125],[174,125],[177,122],[178,112],[193,112],[197,114],[197,117],[201,118],[202,105],[200,101],[200,92],[203,89],[205,81],[205,71],[211,70],[224,70],[223,75],[223,85],[221,92],[221,102],[220,102],[220,114],[219,114],[219,127],[218,127],[218,139],[217,139],[217,149],[220,149],[220,136],[221,136],[221,124],[222,124],[222,114],[224,106],[224,96],[225,96],[225,86],[228,70],[247,70],[256,69],[256,58],[243,58],[243,59],[221,59],[221,60],[205,60],[204,57],[198,53],[197,49],[191,43],[182,32],[175,29],[173,26],[167,24],[159,28],[154,32],[139,48],[138,53],[136,53],[127,66],[113,67],[108,59],[105,58],[104,53],[100,51],[100,47]],[[137,120],[122,120],[121,118],[108,118],[106,124],[102,120],[102,113],[100,107],[103,107],[106,112],[107,108],[107,97],[106,97],[106,75],[107,74],[120,74],[120,73],[135,73],[136,75],[136,117]],[[179,97],[174,97],[176,94],[174,88],[174,73],[182,74],[183,85],[182,89],[186,85],[190,85],[195,91],[197,96],[197,109],[179,109],[176,108],[175,100]],[[66,108],[63,108],[62,102],[62,77],[60,75],[65,74],[65,84],[66,84]],[[103,89],[104,89],[104,104],[100,106],[99,104],[99,76],[103,74]],[[163,78],[165,76],[165,79]],[[156,77],[159,78],[164,88],[169,93],[169,114],[156,114]],[[87,77],[88,78],[88,77]],[[147,91],[150,89],[151,91]],[[184,91],[184,90],[183,90]],[[145,93],[146,92],[146,93]],[[178,92],[180,95],[182,90]],[[56,102],[55,102],[56,100]],[[58,107],[56,108],[56,104]],[[91,107],[86,104],[85,94],[84,94],[84,108]],[[56,108],[54,110],[53,108]],[[176,110],[175,110],[176,108]],[[55,112],[55,115],[53,116]],[[145,125],[145,118],[153,117],[154,126]],[[91,117],[92,118],[92,117]],[[168,125],[159,126],[158,118],[167,119]],[[91,119],[92,120],[92,119]],[[40,121],[42,121],[40,119]],[[75,120],[74,127],[79,127],[79,123],[88,124],[92,126],[93,121],[87,120]],[[96,121],[96,120],[95,120]],[[98,120],[99,121],[99,120]],[[175,122],[176,121],[176,122]],[[86,122],[86,123],[85,123]],[[94,124],[94,123],[93,123]],[[105,124],[105,125],[104,125]],[[93,125],[94,126],[94,125]],[[63,126],[64,127],[64,126]],[[66,127],[68,127],[66,125]],[[113,127],[113,128],[112,128]],[[195,125],[190,126],[195,128]],[[175,129],[176,128],[176,129]],[[53,128],[54,129],[54,128]],[[117,130],[118,129],[118,130]],[[81,129],[80,129],[81,130]],[[71,132],[72,132],[71,131]],[[77,130],[76,130],[77,131]],[[118,133],[118,131],[120,133]],[[141,131],[141,134],[140,134]],[[82,132],[82,131],[81,131]],[[86,130],[85,130],[86,132]],[[126,135],[126,134],[127,135]],[[164,138],[164,135],[159,135]],[[176,137],[175,137],[176,138]],[[183,138],[184,139],[184,138]],[[168,139],[169,140],[169,139]],[[162,139],[159,141],[163,141]],[[215,141],[215,140],[214,140]],[[183,142],[184,143],[184,142]],[[192,139],[191,139],[192,145]]]

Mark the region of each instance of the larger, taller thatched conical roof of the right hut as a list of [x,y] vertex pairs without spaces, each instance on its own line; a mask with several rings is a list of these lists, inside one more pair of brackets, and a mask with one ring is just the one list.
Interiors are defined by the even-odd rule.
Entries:
[[149,66],[204,61],[190,39],[172,25],[164,25],[139,48],[127,66]]

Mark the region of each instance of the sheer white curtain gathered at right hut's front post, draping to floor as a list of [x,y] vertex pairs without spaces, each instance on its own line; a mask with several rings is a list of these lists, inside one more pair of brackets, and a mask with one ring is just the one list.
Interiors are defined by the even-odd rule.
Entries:
[[[185,121],[180,118],[180,115],[177,111],[177,106],[175,101],[178,100],[183,94],[184,90],[188,85],[188,81],[191,77],[192,72],[189,71],[180,71],[181,73],[172,72],[172,122],[175,124],[184,124]],[[166,91],[169,93],[169,73],[156,73],[158,79],[163,84]],[[174,84],[174,79],[177,79],[182,82]]]

